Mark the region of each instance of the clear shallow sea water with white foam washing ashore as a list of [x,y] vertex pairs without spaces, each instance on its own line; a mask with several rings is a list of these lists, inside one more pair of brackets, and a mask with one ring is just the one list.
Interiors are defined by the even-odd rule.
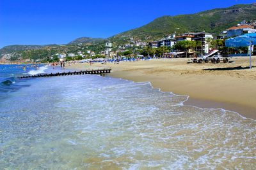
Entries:
[[[1,80],[29,72],[18,70],[1,71]],[[256,122],[238,113],[186,106],[188,96],[108,76],[8,80],[0,169],[256,167]]]

